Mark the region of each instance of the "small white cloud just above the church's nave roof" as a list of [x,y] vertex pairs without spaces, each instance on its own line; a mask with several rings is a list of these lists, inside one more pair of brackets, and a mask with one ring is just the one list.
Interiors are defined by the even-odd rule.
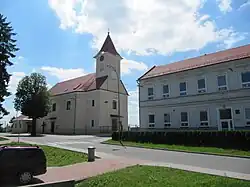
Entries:
[[69,79],[73,79],[76,77],[80,77],[86,75],[84,69],[63,69],[57,67],[43,66],[41,70],[47,72],[51,76],[55,76],[59,79],[59,81],[65,81]]

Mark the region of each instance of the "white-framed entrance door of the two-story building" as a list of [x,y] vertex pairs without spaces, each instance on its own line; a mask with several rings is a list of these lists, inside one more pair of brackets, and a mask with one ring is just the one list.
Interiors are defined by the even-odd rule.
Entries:
[[221,130],[234,130],[231,108],[219,109],[219,125]]

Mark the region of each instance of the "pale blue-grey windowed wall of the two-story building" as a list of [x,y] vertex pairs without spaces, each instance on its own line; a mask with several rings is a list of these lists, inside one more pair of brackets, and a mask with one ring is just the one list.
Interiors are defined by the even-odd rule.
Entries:
[[[142,80],[140,82],[140,126],[148,127],[148,115],[155,113],[156,127],[163,127],[164,112],[170,112],[173,128],[180,125],[180,112],[188,111],[190,126],[199,124],[199,111],[208,110],[210,126],[217,127],[217,108],[232,107],[235,126],[244,127],[244,108],[250,107],[250,89],[242,88],[241,73],[250,71],[250,59],[228,62],[210,67],[179,72],[171,75]],[[219,91],[217,76],[226,75],[226,91]],[[198,93],[197,80],[205,78],[206,92]],[[179,83],[187,83],[187,95],[180,96]],[[163,98],[163,85],[169,85],[169,97]],[[148,88],[154,88],[152,100],[148,99]],[[240,110],[235,114],[234,110]]]

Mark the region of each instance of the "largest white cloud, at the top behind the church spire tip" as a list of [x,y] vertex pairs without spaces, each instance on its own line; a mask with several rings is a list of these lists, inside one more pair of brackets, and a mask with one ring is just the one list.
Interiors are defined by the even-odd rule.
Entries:
[[[209,15],[200,15],[205,0],[49,0],[60,20],[60,28],[94,37],[100,48],[108,28],[119,51],[170,54],[198,50],[210,42],[221,42],[220,32]],[[220,1],[230,10],[230,3]],[[112,6],[110,6],[112,5]],[[206,37],[204,37],[206,36]]]

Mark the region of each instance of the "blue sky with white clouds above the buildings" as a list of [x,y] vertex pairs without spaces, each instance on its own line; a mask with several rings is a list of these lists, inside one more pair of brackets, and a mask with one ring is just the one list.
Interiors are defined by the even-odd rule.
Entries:
[[49,86],[95,71],[93,56],[108,29],[124,57],[122,80],[130,93],[129,123],[138,124],[136,79],[153,65],[250,43],[250,0],[1,0],[0,12],[17,33],[20,50],[9,68],[16,112],[18,81],[31,72]]

